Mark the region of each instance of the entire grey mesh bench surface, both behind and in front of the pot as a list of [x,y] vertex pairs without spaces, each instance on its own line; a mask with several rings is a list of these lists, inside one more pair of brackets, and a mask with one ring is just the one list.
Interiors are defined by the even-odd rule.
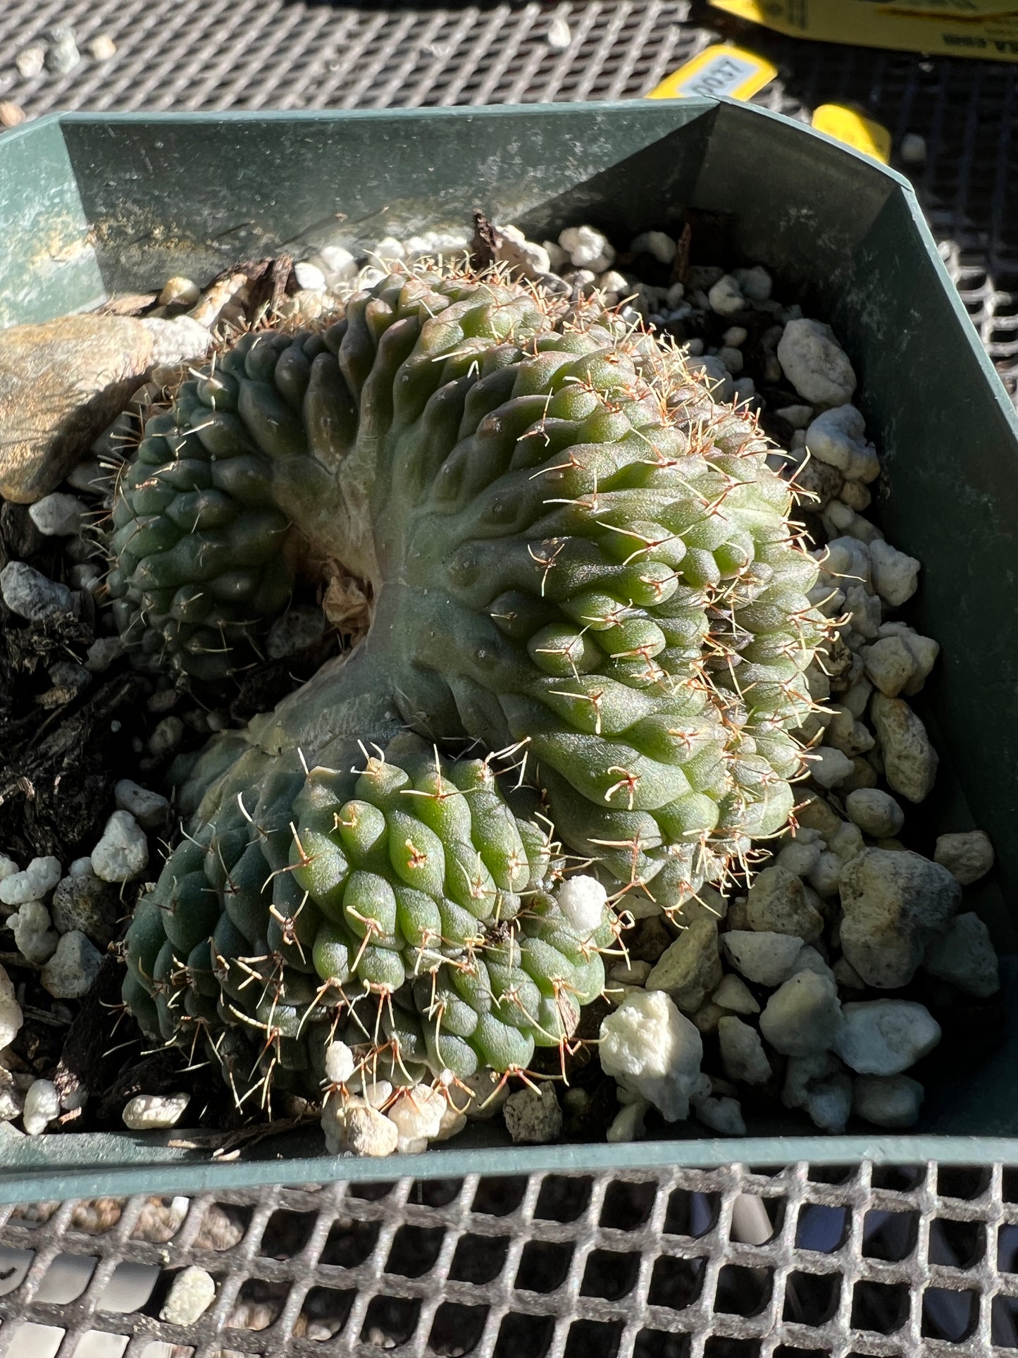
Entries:
[[[569,24],[563,50],[548,42],[557,18]],[[81,62],[23,77],[15,58],[57,24],[73,29]],[[99,34],[117,43],[102,62],[87,50]],[[30,117],[638,98],[718,35],[779,67],[760,103],[808,117],[821,102],[855,102],[889,128],[896,152],[907,133],[924,137],[924,163],[903,168],[1014,394],[1014,65],[793,42],[703,7],[691,14],[687,0],[7,0],[0,98]],[[742,1192],[770,1205],[767,1244],[730,1238]],[[121,1336],[129,1358],[157,1340],[200,1358],[323,1343],[498,1358],[1018,1348],[1018,1181],[1000,1167],[400,1180],[65,1202],[52,1214],[7,1209],[0,1221],[0,1244],[15,1251],[0,1262],[0,1358],[18,1347],[19,1323],[56,1327],[33,1332],[34,1358],[65,1358],[96,1331]],[[83,1260],[76,1300],[67,1255]],[[212,1272],[216,1301],[197,1324],[160,1321],[171,1275],[187,1264]],[[132,1266],[149,1266],[148,1300],[103,1309],[107,1285]]]

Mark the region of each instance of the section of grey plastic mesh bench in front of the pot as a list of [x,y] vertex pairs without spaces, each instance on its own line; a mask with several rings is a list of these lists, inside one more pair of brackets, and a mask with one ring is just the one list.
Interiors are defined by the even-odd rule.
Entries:
[[[125,1358],[153,1340],[195,1358],[303,1358],[323,1344],[352,1358],[383,1347],[407,1358],[1004,1355],[1018,1347],[1017,1190],[999,1165],[795,1164],[5,1209],[0,1244],[22,1253],[0,1300],[0,1355],[19,1321],[64,1331],[60,1358],[96,1331],[121,1336]],[[766,1244],[732,1238],[742,1194],[768,1209]],[[87,1260],[80,1296],[42,1301],[61,1253]],[[148,1300],[115,1315],[103,1293],[125,1258],[151,1266]],[[208,1270],[217,1291],[185,1327],[157,1317],[186,1266]],[[39,1335],[31,1351],[43,1348],[57,1340]]]

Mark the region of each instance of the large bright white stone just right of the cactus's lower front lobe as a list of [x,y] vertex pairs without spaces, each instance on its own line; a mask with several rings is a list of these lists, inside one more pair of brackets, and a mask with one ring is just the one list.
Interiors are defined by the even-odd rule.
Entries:
[[703,1057],[700,1035],[664,990],[633,990],[601,1021],[605,1074],[652,1103],[668,1122],[690,1115]]

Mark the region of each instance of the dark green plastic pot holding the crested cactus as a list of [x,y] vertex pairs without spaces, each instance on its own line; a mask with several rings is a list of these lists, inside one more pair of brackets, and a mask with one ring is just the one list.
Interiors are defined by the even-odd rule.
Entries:
[[[423,113],[45,118],[0,139],[0,323],[95,306],[171,274],[209,277],[335,239],[463,228],[471,208],[542,239],[592,221],[626,240],[684,209],[726,223],[729,262],[806,284],[859,375],[884,462],[880,521],[919,557],[909,619],[942,657],[918,706],[942,756],[928,830],[987,830],[992,881],[970,898],[1018,1008],[1018,422],[947,278],[908,183],[782,117],[711,99]],[[721,250],[721,243],[718,243]],[[927,846],[928,847],[928,846]],[[999,1040],[998,1040],[999,1039]],[[0,1134],[0,1200],[379,1175],[593,1169],[666,1162],[1018,1162],[1018,1032],[945,1044],[923,1071],[916,1135],[767,1135],[506,1149],[475,1127],[410,1158],[324,1157],[318,1137],[251,1158],[145,1135]],[[471,1137],[474,1138],[471,1141]]]

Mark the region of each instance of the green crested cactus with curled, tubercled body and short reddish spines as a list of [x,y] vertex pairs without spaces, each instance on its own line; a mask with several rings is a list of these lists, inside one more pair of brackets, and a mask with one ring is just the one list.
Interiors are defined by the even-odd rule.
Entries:
[[596,300],[466,273],[185,382],[114,508],[140,663],[223,683],[297,573],[371,627],[198,760],[128,934],[145,1032],[254,1101],[319,1099],[334,1038],[402,1085],[563,1046],[619,933],[563,865],[673,911],[791,812],[824,619],[767,451]]

